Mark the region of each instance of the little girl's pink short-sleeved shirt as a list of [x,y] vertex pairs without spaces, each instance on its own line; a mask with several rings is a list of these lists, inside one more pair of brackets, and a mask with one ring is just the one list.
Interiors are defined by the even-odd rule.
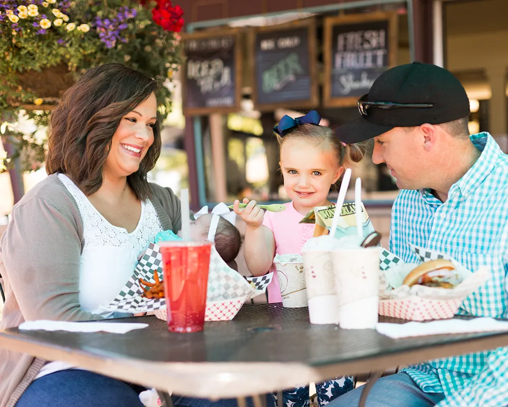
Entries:
[[[273,232],[275,254],[302,254],[302,246],[314,234],[314,224],[298,223],[305,215],[295,209],[293,201],[284,203],[284,206],[286,210],[282,212],[266,211],[263,226],[268,227]],[[270,271],[274,275],[268,286],[268,302],[282,302],[277,269],[273,263]]]

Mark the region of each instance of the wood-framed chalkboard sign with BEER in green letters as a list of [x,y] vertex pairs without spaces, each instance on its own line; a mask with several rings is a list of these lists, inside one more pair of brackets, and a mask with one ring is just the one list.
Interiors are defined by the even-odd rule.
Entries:
[[314,18],[253,28],[250,44],[253,100],[257,110],[317,104]]

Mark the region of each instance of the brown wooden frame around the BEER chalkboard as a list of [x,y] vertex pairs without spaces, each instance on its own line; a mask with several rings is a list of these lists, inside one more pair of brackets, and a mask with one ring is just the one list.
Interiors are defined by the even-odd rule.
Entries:
[[[256,43],[258,34],[278,33],[283,31],[294,30],[295,28],[307,28],[307,44],[308,44],[308,64],[309,64],[309,77],[310,77],[310,98],[300,100],[288,100],[274,103],[259,103],[258,84],[257,84],[257,64],[256,64]],[[316,56],[317,56],[317,42],[316,42],[316,20],[315,18],[307,18],[299,21],[292,21],[285,24],[272,25],[266,27],[252,28],[249,32],[250,44],[250,67],[252,72],[252,99],[254,101],[254,108],[260,111],[273,111],[279,107],[289,108],[312,108],[319,103],[317,96],[317,80],[316,80]]]

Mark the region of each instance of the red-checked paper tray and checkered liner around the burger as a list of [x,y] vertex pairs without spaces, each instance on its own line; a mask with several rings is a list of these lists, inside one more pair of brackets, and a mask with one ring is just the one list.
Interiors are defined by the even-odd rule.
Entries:
[[[379,315],[410,321],[452,318],[464,299],[477,290],[489,276],[489,271],[485,267],[480,267],[475,273],[471,273],[446,254],[415,245],[410,246],[422,263],[438,258],[451,260],[465,279],[457,287],[444,290],[420,285],[412,286],[411,289],[407,286],[394,287],[393,290],[381,288],[382,299],[379,299]],[[404,262],[386,249],[382,250],[380,261],[382,273],[392,267],[406,269],[407,272],[412,270],[411,267],[405,268]],[[414,265],[414,267],[416,266]],[[393,297],[391,291],[393,291]]]

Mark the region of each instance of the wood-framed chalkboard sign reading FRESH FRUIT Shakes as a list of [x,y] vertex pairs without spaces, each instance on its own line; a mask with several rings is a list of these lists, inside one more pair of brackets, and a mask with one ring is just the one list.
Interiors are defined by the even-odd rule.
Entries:
[[323,104],[354,105],[380,74],[395,66],[396,56],[395,13],[325,18]]

